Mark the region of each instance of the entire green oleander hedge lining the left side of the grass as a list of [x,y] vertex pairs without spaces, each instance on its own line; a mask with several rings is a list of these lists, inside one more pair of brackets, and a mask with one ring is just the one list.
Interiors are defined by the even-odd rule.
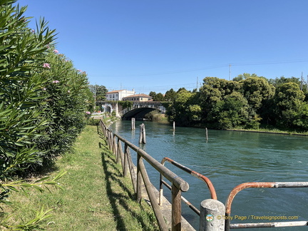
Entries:
[[71,148],[93,106],[86,73],[58,54],[55,31],[44,19],[29,29],[26,7],[14,4],[0,0],[0,202],[14,190],[6,180]]

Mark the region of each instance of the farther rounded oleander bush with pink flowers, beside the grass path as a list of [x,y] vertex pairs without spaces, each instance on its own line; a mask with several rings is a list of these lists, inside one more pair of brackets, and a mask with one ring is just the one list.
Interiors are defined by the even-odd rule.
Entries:
[[76,70],[66,56],[49,47],[45,61],[46,67],[36,75],[46,80],[43,85],[46,92],[44,113],[50,122],[43,135],[34,140],[48,162],[71,148],[86,124],[94,102],[86,73]]

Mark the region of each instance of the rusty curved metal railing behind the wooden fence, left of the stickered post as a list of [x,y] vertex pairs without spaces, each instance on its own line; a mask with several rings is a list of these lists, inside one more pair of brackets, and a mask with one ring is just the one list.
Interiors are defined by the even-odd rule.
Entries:
[[[211,198],[214,200],[217,200],[217,195],[216,195],[216,191],[214,188],[214,185],[212,185],[212,182],[210,181],[209,178],[205,177],[204,175],[197,173],[194,170],[191,170],[190,168],[187,168],[184,165],[181,165],[180,163],[176,162],[175,160],[172,160],[170,158],[163,158],[163,160],[161,161],[161,163],[163,165],[165,165],[165,161],[168,161],[169,163],[171,163],[172,165],[175,165],[176,167],[180,168],[181,170],[184,170],[186,173],[189,173],[190,175],[193,175],[195,178],[198,178],[200,180],[203,180],[206,184],[207,187],[210,190],[210,195]],[[165,180],[163,180],[163,175],[160,174],[160,196],[159,196],[159,204],[161,205],[162,203],[162,198],[163,198],[163,185],[165,185],[169,190],[171,190],[171,186],[168,185],[168,183],[165,182]],[[192,205],[188,200],[185,199],[185,197],[181,196],[181,199],[183,200],[183,202],[185,202],[186,205],[188,205],[188,207],[190,207],[197,215],[200,216],[200,211],[194,206]]]

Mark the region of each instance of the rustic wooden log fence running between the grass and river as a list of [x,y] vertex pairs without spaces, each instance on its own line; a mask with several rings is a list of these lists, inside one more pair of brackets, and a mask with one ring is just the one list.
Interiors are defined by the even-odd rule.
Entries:
[[[171,211],[171,228],[172,230],[181,230],[181,193],[188,190],[189,185],[185,180],[180,178],[178,175],[170,171],[164,165],[152,158],[148,153],[145,153],[144,150],[140,149],[133,143],[130,143],[128,140],[120,137],[120,135],[114,134],[112,130],[109,130],[106,125],[103,123],[103,120],[100,121],[99,125],[103,130],[103,135],[106,137],[108,147],[116,155],[117,162],[122,163],[123,175],[128,175],[128,170],[130,171],[130,178],[133,183],[133,188],[136,195],[136,200],[138,202],[142,199],[142,181],[145,185],[145,190],[148,193],[150,203],[153,207],[156,220],[158,221],[158,226],[160,230],[168,230],[168,226],[165,222],[163,214],[160,210],[160,205],[158,205],[158,197],[155,195],[154,186],[150,183],[148,178],[148,173],[145,169],[143,160],[147,161],[155,170],[162,174],[165,178],[170,180],[172,183],[171,186],[171,195],[172,195],[172,211]],[[124,145],[124,151],[122,148],[122,143]],[[135,165],[133,165],[133,160],[130,155],[130,150],[137,153],[137,168],[135,172]]]

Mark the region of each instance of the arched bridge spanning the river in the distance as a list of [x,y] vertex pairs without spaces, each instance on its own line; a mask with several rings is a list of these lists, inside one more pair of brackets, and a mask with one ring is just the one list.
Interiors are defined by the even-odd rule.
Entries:
[[143,120],[144,116],[151,111],[158,110],[160,113],[165,113],[166,109],[163,103],[159,101],[144,101],[144,102],[133,102],[133,108],[121,108],[118,102],[115,103],[104,103],[102,105],[105,112],[112,113],[116,111],[117,117],[122,117],[123,120],[131,120],[135,118],[136,120]]

